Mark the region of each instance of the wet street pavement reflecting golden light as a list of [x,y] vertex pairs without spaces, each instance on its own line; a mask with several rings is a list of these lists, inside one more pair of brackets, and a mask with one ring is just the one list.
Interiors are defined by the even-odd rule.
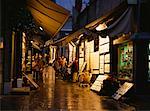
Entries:
[[43,83],[30,95],[1,96],[1,110],[22,111],[134,111],[135,108],[109,97],[99,96],[89,87],[79,87],[55,79],[52,67],[44,70]]

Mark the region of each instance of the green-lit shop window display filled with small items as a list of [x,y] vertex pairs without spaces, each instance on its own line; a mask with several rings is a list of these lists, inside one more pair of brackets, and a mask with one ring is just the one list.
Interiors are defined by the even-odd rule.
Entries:
[[133,76],[133,43],[127,42],[118,48],[119,79],[132,80]]

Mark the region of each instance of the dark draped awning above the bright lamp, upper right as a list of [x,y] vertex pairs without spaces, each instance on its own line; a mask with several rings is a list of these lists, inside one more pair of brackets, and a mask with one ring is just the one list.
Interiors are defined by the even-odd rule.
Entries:
[[111,12],[86,25],[85,27],[89,30],[95,31],[99,24],[105,23],[107,28],[102,31],[97,31],[98,34],[103,35],[105,33],[110,37],[118,36],[122,33],[128,34],[130,32],[134,32],[135,30],[133,16],[134,14],[132,7],[123,2]]

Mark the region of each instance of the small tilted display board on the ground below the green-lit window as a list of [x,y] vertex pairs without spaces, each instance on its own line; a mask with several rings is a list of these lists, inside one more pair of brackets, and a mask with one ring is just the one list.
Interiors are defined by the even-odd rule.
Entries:
[[116,92],[112,95],[112,97],[116,100],[121,98],[131,87],[133,86],[133,83],[125,82]]

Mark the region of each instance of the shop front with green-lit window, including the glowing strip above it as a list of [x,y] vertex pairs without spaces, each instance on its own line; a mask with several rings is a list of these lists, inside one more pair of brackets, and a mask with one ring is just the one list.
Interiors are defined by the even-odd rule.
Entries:
[[133,41],[126,35],[115,39],[113,45],[116,48],[116,72],[118,80],[133,82]]

